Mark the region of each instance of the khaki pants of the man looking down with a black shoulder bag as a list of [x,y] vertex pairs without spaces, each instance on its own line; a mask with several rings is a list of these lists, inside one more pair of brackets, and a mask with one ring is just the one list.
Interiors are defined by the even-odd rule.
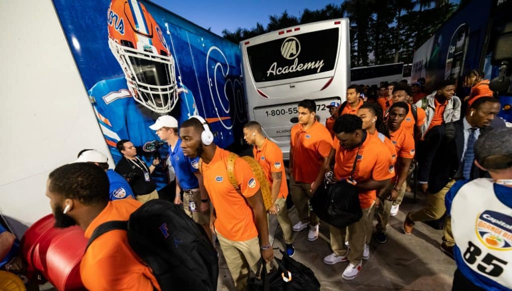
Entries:
[[345,228],[337,228],[329,225],[331,248],[336,256],[345,256],[348,248],[345,245],[345,236],[349,232],[350,252],[348,259],[350,263],[357,265],[362,260],[362,253],[365,251],[365,244],[369,244],[373,232],[373,214],[375,207],[362,210],[362,217],[359,221],[350,224]]

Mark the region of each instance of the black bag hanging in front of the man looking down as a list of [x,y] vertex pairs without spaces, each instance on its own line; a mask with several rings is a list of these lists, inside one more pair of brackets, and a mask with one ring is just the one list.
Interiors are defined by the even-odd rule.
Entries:
[[346,180],[320,185],[310,203],[318,218],[338,228],[357,222],[362,217],[357,188]]

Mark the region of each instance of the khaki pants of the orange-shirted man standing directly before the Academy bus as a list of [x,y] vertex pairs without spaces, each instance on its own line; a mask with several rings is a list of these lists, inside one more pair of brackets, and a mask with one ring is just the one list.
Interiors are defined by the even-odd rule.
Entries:
[[290,176],[290,194],[297,209],[298,217],[301,218],[303,223],[309,222],[309,225],[316,225],[320,219],[312,211],[309,211],[310,189],[311,184],[297,182]]

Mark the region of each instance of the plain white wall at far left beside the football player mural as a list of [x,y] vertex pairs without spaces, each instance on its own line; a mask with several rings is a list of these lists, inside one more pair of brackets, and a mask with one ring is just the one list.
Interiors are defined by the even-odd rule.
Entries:
[[112,158],[51,0],[0,1],[0,27],[0,213],[21,237],[51,212],[53,169],[86,148]]

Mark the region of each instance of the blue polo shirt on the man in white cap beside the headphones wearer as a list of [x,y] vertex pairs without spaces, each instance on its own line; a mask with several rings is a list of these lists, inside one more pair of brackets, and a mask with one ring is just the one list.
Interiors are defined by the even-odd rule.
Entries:
[[181,139],[178,139],[174,151],[169,147],[169,160],[173,165],[176,177],[183,190],[199,188],[199,181],[196,178],[196,173],[199,169],[199,157],[191,159],[185,157],[181,149]]

